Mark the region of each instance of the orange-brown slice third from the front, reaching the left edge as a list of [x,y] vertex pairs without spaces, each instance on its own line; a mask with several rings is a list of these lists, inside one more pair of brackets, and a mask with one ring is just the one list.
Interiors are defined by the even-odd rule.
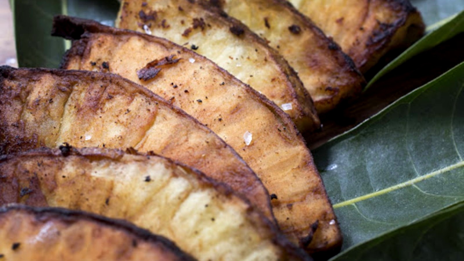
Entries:
[[0,67],[0,155],[65,142],[154,151],[227,183],[274,220],[267,190],[243,159],[146,88],[98,72]]

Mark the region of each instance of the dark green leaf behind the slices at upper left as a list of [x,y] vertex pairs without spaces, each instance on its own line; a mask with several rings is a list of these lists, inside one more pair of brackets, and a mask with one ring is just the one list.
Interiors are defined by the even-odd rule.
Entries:
[[116,19],[116,0],[11,0],[20,67],[57,68],[69,42],[52,37],[53,16],[69,14],[106,24]]

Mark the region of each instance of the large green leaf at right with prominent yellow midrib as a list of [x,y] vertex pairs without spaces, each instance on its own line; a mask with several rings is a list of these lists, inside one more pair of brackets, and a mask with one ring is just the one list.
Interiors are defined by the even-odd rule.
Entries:
[[313,151],[343,249],[464,200],[464,63]]

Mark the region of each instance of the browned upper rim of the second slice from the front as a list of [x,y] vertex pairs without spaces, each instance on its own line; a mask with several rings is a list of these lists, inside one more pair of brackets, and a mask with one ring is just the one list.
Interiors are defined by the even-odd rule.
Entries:
[[[90,151],[86,151],[90,150]],[[83,148],[83,149],[77,149],[77,148],[71,148],[70,154],[67,157],[70,156],[77,156],[77,157],[102,157],[102,158],[107,158],[110,160],[119,160],[121,157],[123,157],[124,154],[128,154],[122,150],[118,149],[101,149],[101,148]],[[117,155],[116,157],[113,155]],[[177,161],[174,161],[172,159],[169,159],[167,157],[163,157],[154,153],[140,153],[138,151],[132,150],[130,155],[136,155],[136,156],[142,156],[142,157],[159,157],[162,160],[166,160],[167,163],[178,165],[184,170],[187,170],[187,173],[195,175],[199,181],[207,186],[213,187],[216,191],[218,191],[220,194],[223,194],[227,197],[236,197],[238,200],[241,200],[245,202],[247,205],[247,215],[248,217],[254,221],[258,220],[262,222],[265,226],[265,228],[269,228],[272,239],[275,244],[278,246],[281,246],[288,254],[291,256],[294,256],[300,260],[303,261],[312,261],[312,258],[309,257],[309,255],[301,248],[296,247],[293,243],[288,241],[288,239],[285,237],[282,232],[277,228],[277,226],[272,223],[268,218],[266,218],[258,209],[256,209],[255,206],[251,204],[251,202],[246,199],[245,197],[239,195],[237,192],[235,192],[231,187],[229,187],[225,183],[220,183],[218,181],[215,181],[214,179],[206,176],[203,174],[200,170],[196,170],[190,166],[187,166],[184,163],[180,163]],[[63,157],[62,153],[59,149],[50,149],[50,148],[40,148],[36,150],[29,150],[26,152],[19,152],[19,153],[13,153],[10,155],[4,155],[0,156],[0,164],[7,161],[7,160],[16,160],[18,158],[34,158],[34,157]],[[148,160],[148,159],[147,159]],[[71,211],[72,212],[72,211]],[[77,211],[79,212],[79,211]],[[82,211],[81,211],[82,212]],[[0,214],[1,214],[1,209],[0,209]],[[98,216],[98,215],[96,215]],[[111,220],[111,219],[110,219]],[[127,223],[127,222],[126,222]],[[254,222],[255,223],[255,222]],[[134,226],[134,225],[133,225]],[[144,230],[144,229],[142,229]],[[146,230],[145,230],[146,231]],[[151,234],[151,232],[148,232]]]

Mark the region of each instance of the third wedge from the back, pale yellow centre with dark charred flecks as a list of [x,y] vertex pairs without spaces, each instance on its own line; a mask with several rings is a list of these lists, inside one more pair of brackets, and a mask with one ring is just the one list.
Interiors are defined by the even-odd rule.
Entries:
[[195,0],[127,0],[116,26],[191,48],[285,108],[300,131],[320,128],[311,97],[287,61],[218,8]]

